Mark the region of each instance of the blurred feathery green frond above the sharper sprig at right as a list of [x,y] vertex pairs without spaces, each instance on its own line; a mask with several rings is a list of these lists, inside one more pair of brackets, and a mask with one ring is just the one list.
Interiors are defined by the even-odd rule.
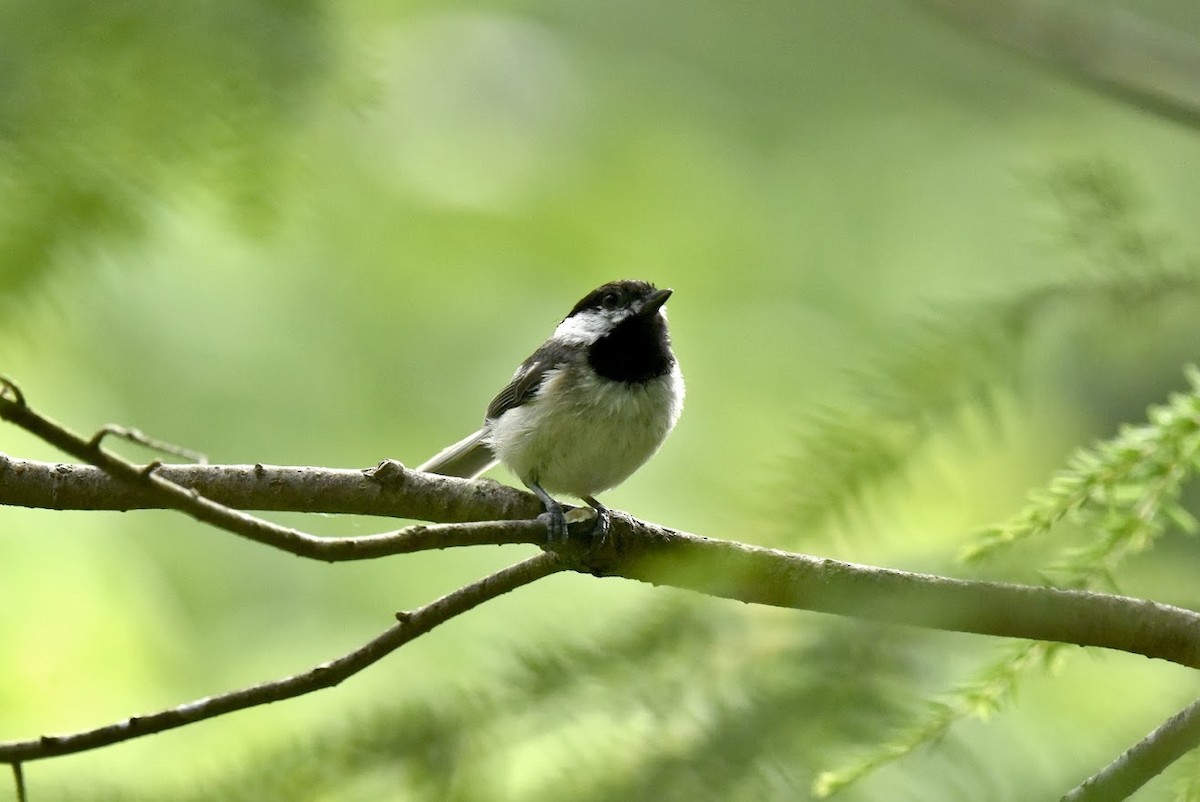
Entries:
[[[991,411],[997,393],[1028,381],[1030,348],[1048,331],[1103,336],[1114,318],[1136,330],[1200,298],[1200,271],[1147,226],[1124,172],[1069,162],[1045,185],[1055,240],[1085,267],[995,300],[943,306],[874,370],[856,373],[853,397],[808,415],[780,487],[790,527],[821,528],[857,511],[881,483],[902,479],[931,435],[965,409]],[[1064,321],[1074,321],[1066,331]]]

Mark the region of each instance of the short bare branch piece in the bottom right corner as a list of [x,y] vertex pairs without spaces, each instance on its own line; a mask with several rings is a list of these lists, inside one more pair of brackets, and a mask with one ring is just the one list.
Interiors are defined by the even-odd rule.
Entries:
[[1172,762],[1200,746],[1200,700],[1163,722],[1062,802],[1116,802],[1129,797]]

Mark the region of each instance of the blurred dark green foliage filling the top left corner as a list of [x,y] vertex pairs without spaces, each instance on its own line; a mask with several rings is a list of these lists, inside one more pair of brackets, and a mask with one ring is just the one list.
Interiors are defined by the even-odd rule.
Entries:
[[0,53],[0,300],[197,179],[247,231],[272,216],[276,151],[330,60],[307,0],[17,0]]

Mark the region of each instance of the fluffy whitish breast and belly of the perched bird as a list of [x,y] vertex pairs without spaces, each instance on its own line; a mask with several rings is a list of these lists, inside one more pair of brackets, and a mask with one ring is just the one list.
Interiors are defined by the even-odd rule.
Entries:
[[678,364],[642,384],[568,365],[547,373],[532,401],[493,420],[488,442],[522,481],[552,493],[595,496],[659,450],[679,419],[683,396]]

